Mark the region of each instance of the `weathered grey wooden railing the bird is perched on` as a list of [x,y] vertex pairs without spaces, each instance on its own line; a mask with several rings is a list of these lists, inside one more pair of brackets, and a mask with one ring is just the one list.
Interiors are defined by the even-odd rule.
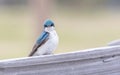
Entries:
[[0,75],[120,75],[120,46],[1,60]]

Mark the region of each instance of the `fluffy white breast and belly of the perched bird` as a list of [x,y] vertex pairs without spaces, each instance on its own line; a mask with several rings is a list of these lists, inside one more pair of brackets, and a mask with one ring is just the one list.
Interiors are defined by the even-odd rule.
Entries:
[[38,48],[36,55],[51,54],[58,45],[59,38],[55,30],[49,32],[48,41]]

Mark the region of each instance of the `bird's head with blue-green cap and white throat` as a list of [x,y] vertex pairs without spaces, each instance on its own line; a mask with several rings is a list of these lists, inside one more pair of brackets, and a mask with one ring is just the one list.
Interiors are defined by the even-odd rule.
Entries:
[[45,21],[45,23],[44,23],[44,29],[45,29],[45,31],[47,31],[47,32],[49,32],[49,31],[52,31],[52,30],[54,30],[54,23],[53,23],[53,21],[51,21],[51,20],[46,20]]

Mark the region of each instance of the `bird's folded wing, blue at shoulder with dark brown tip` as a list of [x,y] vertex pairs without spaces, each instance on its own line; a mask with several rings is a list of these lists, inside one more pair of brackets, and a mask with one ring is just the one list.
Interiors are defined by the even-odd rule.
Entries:
[[42,35],[38,38],[36,44],[33,46],[33,49],[29,56],[32,56],[37,49],[42,46],[47,40],[49,39],[49,33],[48,32],[43,32]]

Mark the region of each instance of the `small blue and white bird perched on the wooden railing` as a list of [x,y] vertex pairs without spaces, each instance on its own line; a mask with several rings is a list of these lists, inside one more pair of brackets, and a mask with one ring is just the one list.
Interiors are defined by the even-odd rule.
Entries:
[[57,48],[59,37],[55,31],[54,22],[47,19],[43,25],[43,31],[35,42],[29,56],[50,55]]

